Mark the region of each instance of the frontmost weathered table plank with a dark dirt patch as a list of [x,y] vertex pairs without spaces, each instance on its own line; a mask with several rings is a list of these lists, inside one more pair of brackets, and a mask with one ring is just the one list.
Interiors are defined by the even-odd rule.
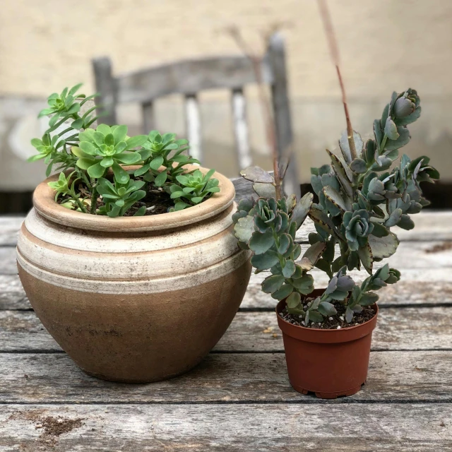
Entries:
[[[6,405],[2,451],[451,451],[452,405]],[[60,418],[69,433],[47,434]],[[73,421],[72,424],[70,421]],[[49,441],[46,443],[46,441]],[[47,448],[50,446],[49,448]]]

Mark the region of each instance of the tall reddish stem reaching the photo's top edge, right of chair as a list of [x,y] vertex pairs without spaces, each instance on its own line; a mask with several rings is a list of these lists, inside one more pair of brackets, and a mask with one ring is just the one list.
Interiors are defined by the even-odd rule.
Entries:
[[331,59],[336,68],[336,73],[338,73],[340,91],[342,93],[342,103],[344,105],[345,121],[347,121],[347,138],[348,145],[350,147],[350,154],[352,155],[352,160],[357,157],[355,139],[353,138],[353,127],[352,121],[350,121],[350,114],[348,113],[347,106],[347,95],[345,93],[345,86],[343,83],[343,78],[340,73],[340,61],[339,61],[339,49],[338,41],[335,37],[335,32],[333,28],[333,23],[331,22],[330,11],[328,10],[328,4],[326,0],[317,0],[320,9],[320,16],[323,22],[323,28],[325,29],[326,40],[328,41],[328,48],[330,49]]

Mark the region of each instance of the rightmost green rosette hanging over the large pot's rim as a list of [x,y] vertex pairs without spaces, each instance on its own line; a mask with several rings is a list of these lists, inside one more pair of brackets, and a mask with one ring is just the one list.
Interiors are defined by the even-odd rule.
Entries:
[[184,202],[184,199],[191,204],[201,203],[206,196],[218,193],[218,179],[211,179],[215,169],[210,169],[206,174],[203,174],[199,169],[196,169],[191,174],[179,174],[176,176],[179,184],[169,185],[168,191],[171,198],[178,200],[174,206],[174,210],[182,210],[190,207],[190,204]]

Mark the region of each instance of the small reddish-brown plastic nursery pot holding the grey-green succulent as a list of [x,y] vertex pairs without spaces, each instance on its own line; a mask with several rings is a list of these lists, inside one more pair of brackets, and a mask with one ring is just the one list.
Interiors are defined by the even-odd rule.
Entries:
[[[319,297],[325,290],[314,290]],[[375,316],[358,326],[340,330],[304,328],[289,323],[279,313],[285,300],[276,307],[278,326],[283,331],[289,380],[295,391],[316,393],[319,398],[336,398],[357,393],[367,379]]]

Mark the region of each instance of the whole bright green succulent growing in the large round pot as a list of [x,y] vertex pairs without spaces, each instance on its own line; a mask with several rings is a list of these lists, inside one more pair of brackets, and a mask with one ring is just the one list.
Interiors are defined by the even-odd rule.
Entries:
[[[49,129],[41,139],[32,139],[38,153],[29,160],[44,159],[47,176],[60,171],[49,186],[61,206],[109,217],[131,215],[131,208],[133,215],[145,215],[153,206],[147,209],[141,200],[153,189],[174,199],[169,211],[189,208],[220,191],[218,180],[211,178],[214,169],[206,175],[198,169],[187,171],[186,165],[199,162],[186,155],[188,141],[177,140],[174,133],[128,136],[124,125],[91,128],[99,117],[94,106],[83,105],[95,95],[77,94],[80,87],[49,96],[49,107],[40,112],[40,117],[50,117]],[[139,167],[127,170],[123,165]]]

